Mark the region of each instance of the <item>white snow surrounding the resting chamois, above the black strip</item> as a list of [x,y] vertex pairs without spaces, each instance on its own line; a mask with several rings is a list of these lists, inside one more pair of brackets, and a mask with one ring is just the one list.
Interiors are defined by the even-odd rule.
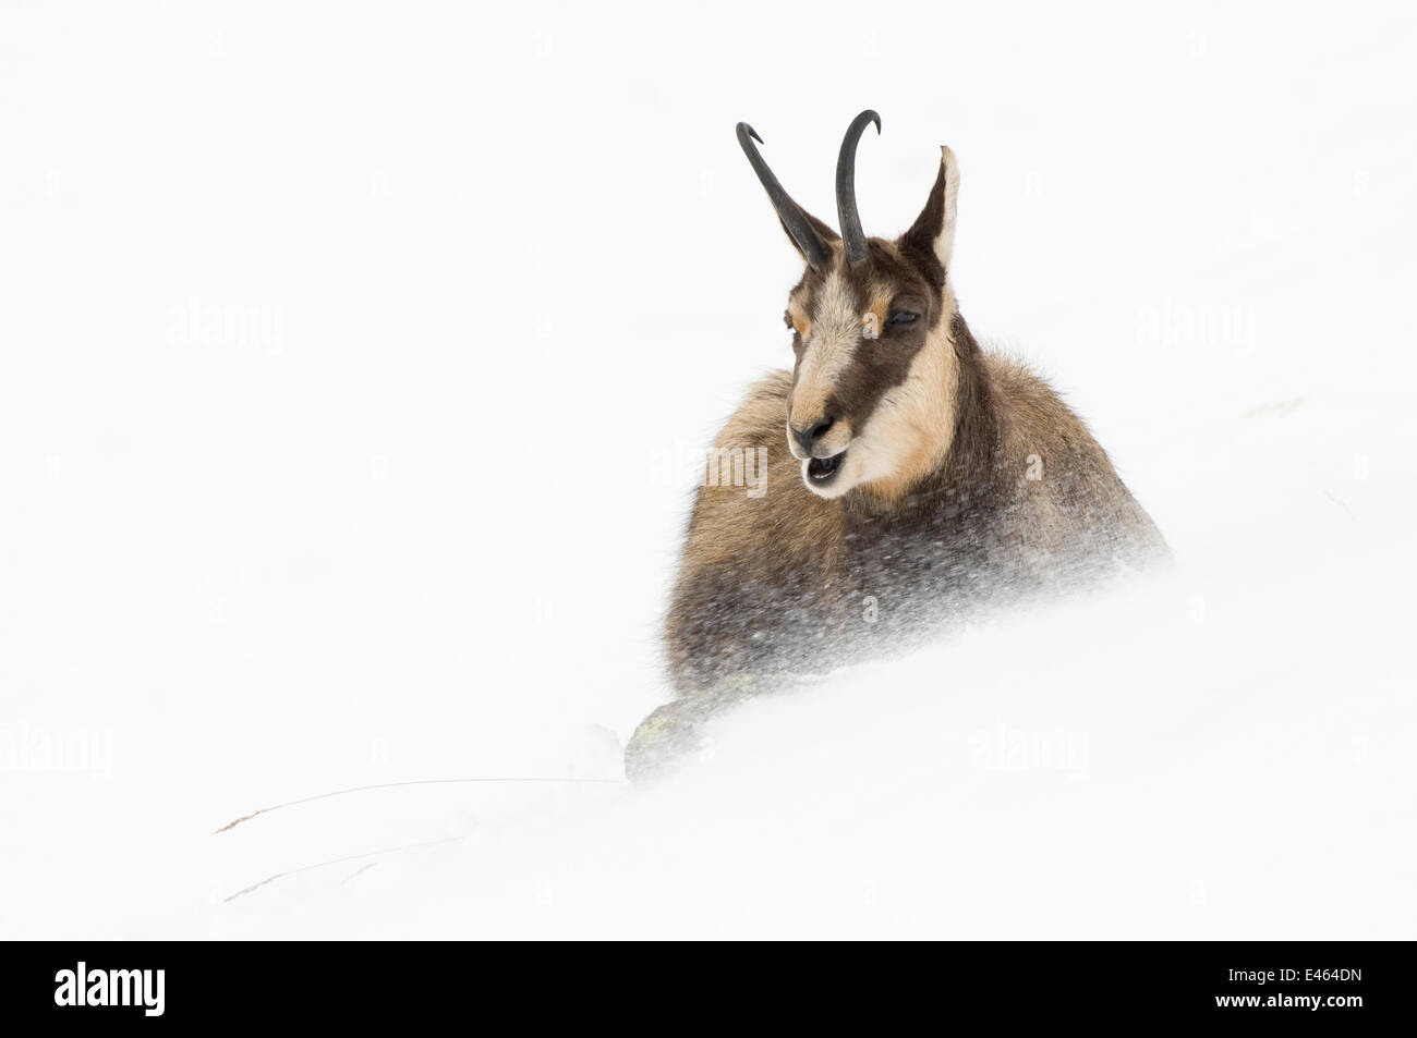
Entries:
[[[1414,68],[1399,3],[4,3],[0,936],[1417,936]],[[867,232],[951,144],[965,317],[1175,571],[648,792],[213,835],[619,775],[791,357],[734,123],[832,218],[863,108]]]

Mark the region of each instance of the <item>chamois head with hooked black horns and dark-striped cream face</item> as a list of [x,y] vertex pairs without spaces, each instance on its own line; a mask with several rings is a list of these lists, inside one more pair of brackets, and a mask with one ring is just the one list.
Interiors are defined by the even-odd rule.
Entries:
[[955,425],[956,307],[948,283],[959,169],[941,147],[925,208],[900,238],[867,238],[856,212],[856,144],[880,116],[862,112],[836,164],[842,234],[782,190],[738,123],[738,143],[806,270],[784,314],[796,365],[786,436],[802,480],[822,497],[852,489],[896,500],[932,472]]

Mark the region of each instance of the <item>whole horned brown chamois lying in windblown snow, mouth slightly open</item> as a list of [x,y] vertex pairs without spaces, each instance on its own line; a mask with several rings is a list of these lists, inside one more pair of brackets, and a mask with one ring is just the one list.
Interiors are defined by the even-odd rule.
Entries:
[[[626,749],[643,777],[706,718],[794,675],[1168,555],[1102,447],[1020,364],[982,350],[949,279],[959,167],[941,147],[905,234],[856,210],[860,113],[836,167],[837,235],[738,143],[806,263],[784,314],[796,361],[752,385],[716,452],[767,459],[767,493],[701,486],[665,644],[677,698]],[[723,456],[720,453],[720,456]],[[801,469],[801,480],[781,479]]]

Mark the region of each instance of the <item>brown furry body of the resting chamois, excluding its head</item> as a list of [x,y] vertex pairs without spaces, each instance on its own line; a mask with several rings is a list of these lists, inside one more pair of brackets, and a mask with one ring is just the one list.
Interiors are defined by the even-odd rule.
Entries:
[[[1165,557],[1107,453],[1049,385],[981,351],[962,319],[955,337],[949,453],[900,497],[811,493],[782,429],[791,375],[748,389],[716,446],[765,449],[768,493],[697,493],[666,623],[680,694],[873,656],[973,606]],[[1030,456],[1041,479],[1029,479]],[[867,596],[876,623],[864,619]]]

